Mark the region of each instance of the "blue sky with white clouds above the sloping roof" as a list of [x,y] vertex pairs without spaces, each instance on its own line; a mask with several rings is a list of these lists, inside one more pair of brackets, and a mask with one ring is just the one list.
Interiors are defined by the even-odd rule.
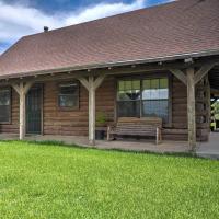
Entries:
[[24,35],[172,0],[0,0],[0,54]]

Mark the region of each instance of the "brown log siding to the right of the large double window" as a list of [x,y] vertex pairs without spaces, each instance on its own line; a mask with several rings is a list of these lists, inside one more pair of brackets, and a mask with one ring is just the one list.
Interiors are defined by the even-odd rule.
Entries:
[[[170,140],[187,140],[187,89],[175,77],[172,82],[172,127],[163,130],[163,138]],[[205,78],[196,85],[196,126],[197,140],[206,141],[209,136],[209,96],[200,96],[199,91],[209,91],[208,79]],[[204,111],[199,105],[206,104]],[[200,117],[206,116],[206,122],[200,122]]]

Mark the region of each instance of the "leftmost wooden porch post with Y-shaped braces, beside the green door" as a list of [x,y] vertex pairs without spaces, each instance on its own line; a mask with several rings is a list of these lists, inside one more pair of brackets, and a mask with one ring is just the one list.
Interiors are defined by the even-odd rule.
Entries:
[[25,108],[26,108],[26,93],[31,89],[33,82],[20,82],[19,84],[12,84],[13,89],[19,94],[19,103],[20,103],[20,111],[19,111],[19,139],[23,140],[25,137]]

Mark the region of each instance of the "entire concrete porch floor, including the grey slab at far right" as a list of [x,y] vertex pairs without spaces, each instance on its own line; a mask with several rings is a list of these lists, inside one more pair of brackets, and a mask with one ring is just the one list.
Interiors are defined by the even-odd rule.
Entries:
[[[0,134],[0,140],[18,140],[18,135]],[[26,136],[25,140],[34,141],[61,141],[67,145],[78,145],[81,147],[92,147],[89,145],[88,137],[82,136]],[[96,140],[99,149],[120,149],[128,151],[150,151],[150,152],[188,152],[188,145],[186,141],[162,141],[158,146],[154,140]],[[219,159],[219,132],[210,134],[209,142],[197,142],[197,155],[205,158]]]

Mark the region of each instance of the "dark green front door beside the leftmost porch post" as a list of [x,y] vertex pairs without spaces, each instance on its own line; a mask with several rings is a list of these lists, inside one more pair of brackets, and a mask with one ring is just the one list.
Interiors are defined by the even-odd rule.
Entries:
[[43,85],[34,85],[26,95],[26,134],[42,134]]

